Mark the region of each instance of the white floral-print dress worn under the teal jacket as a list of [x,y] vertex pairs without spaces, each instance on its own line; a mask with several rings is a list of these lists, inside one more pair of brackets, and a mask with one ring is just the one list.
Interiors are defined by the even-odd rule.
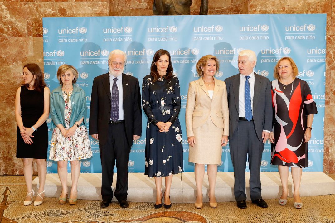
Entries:
[[[71,107],[72,91],[67,94],[63,91],[63,98],[65,102],[64,107],[64,121],[65,129],[70,128],[70,117],[72,112]],[[87,128],[84,125],[76,129],[72,137],[65,138],[58,127],[52,132],[50,145],[50,160],[81,160],[92,156],[91,143],[88,138]]]

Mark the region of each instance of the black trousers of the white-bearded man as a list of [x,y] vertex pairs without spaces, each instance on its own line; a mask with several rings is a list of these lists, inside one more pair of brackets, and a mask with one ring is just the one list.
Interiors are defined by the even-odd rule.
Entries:
[[117,200],[127,199],[128,191],[128,159],[130,146],[127,143],[125,123],[109,124],[107,142],[99,145],[102,166],[101,195],[103,199],[112,200],[113,175],[116,160],[117,176],[115,197]]

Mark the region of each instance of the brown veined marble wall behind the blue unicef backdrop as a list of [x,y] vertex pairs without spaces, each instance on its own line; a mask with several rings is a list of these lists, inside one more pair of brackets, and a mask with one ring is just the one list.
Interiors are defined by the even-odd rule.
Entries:
[[[335,173],[335,0],[208,0],[208,14],[326,13],[327,68],[324,172]],[[193,0],[191,14],[199,14]],[[7,0],[0,2],[0,175],[19,175],[16,158],[15,91],[22,66],[38,63],[43,71],[42,17],[152,15],[153,0]],[[334,21],[334,23],[333,23]],[[36,164],[34,173],[37,174]]]

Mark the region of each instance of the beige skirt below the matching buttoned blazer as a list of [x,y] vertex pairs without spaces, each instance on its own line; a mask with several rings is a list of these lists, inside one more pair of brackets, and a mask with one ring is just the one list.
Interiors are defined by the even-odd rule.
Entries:
[[212,119],[208,117],[205,124],[198,128],[193,128],[193,133],[196,144],[194,147],[190,146],[189,162],[220,164],[223,129],[216,127]]

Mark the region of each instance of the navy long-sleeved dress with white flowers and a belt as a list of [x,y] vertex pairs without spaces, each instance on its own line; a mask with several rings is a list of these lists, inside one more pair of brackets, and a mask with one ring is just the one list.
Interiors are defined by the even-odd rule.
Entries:
[[[151,75],[143,79],[142,105],[148,117],[145,145],[145,173],[149,177],[169,176],[183,172],[183,141],[178,114],[180,86],[178,78],[159,78],[152,82]],[[166,106],[168,109],[152,109]],[[159,132],[156,123],[171,122],[168,132]]]

